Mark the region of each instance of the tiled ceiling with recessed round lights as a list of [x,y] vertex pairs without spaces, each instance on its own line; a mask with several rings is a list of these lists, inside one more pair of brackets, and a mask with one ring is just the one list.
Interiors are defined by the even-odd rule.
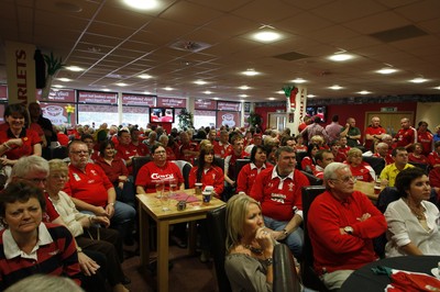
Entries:
[[[6,82],[4,42],[15,41],[85,68],[62,69],[56,78],[73,81],[53,83],[75,89],[268,101],[285,100],[277,91],[304,78],[317,98],[360,97],[361,90],[370,97],[440,93],[435,89],[440,86],[439,0],[158,1],[158,9],[140,12],[122,0],[2,0],[0,82]],[[284,38],[252,40],[263,25]],[[198,52],[187,49],[197,46]],[[355,58],[327,59],[343,50]],[[399,71],[375,72],[386,66]],[[241,74],[250,68],[261,75]],[[408,82],[416,77],[428,81]],[[328,88],[333,85],[343,88]]]

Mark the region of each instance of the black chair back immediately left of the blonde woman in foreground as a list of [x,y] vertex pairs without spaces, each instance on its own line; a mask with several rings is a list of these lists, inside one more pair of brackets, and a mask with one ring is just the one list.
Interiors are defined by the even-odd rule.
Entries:
[[224,270],[224,257],[227,252],[227,207],[226,205],[211,210],[207,213],[208,234],[211,245],[211,255],[216,267],[217,284],[220,292],[231,292],[227,272]]

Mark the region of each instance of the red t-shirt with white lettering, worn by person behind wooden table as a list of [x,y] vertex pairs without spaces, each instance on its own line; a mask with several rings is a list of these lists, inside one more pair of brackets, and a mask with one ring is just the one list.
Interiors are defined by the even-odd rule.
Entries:
[[[166,161],[163,167],[158,167],[154,161],[150,161],[139,170],[135,186],[143,187],[146,193],[155,192],[157,181],[170,179],[177,179],[178,186],[185,182],[180,169],[175,164]],[[168,183],[165,183],[165,189],[169,189]]]

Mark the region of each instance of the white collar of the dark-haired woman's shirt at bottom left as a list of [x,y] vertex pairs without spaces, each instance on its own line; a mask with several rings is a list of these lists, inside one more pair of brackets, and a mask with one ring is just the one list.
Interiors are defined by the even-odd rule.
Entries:
[[22,257],[22,258],[26,258],[26,259],[38,260],[36,257],[36,250],[38,250],[40,246],[48,245],[54,242],[54,239],[52,239],[52,236],[48,233],[47,227],[44,223],[40,223],[38,240],[36,242],[36,245],[32,249],[31,254],[26,254],[20,249],[20,247],[16,245],[15,240],[13,239],[10,229],[4,231],[4,233],[2,235],[2,239],[3,239],[4,257],[7,259]]

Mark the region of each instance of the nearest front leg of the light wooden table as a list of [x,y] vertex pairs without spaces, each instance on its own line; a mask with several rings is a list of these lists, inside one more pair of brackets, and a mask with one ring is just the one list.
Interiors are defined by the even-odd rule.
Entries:
[[157,288],[158,292],[168,292],[168,235],[169,222],[157,222]]

